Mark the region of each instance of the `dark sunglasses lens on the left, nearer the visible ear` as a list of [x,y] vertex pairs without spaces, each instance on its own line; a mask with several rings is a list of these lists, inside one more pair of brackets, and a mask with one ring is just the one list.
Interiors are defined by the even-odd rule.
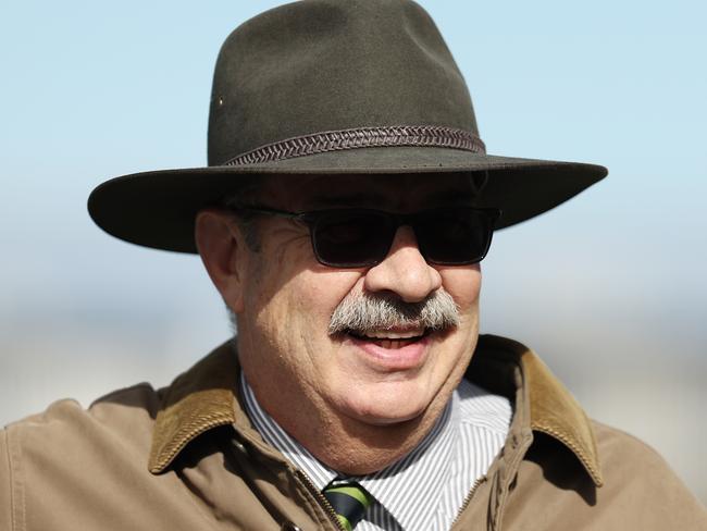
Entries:
[[390,220],[371,211],[322,213],[312,226],[312,245],[320,262],[338,268],[373,266],[385,258],[393,240]]

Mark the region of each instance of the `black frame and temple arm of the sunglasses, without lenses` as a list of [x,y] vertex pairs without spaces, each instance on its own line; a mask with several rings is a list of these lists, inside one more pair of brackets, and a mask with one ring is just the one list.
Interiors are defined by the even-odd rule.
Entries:
[[[237,209],[233,209],[233,210],[237,212],[251,212],[255,214],[286,218],[286,219],[290,219],[303,223],[309,229],[310,243],[312,246],[312,250],[314,251],[314,256],[317,257],[317,260],[323,266],[327,266],[330,268],[338,268],[338,269],[371,268],[373,266],[381,263],[385,259],[385,256],[387,256],[387,251],[389,251],[390,249],[393,239],[390,239],[389,242],[386,255],[384,255],[379,260],[365,260],[365,261],[357,261],[357,262],[332,262],[325,260],[320,255],[314,234],[317,232],[317,227],[320,220],[326,215],[331,215],[332,213],[342,213],[342,212],[373,213],[379,218],[392,220],[393,222],[395,222],[394,224],[389,224],[389,226],[395,227],[396,231],[397,229],[404,225],[410,226],[414,231],[415,220],[419,220],[420,218],[423,218],[425,215],[430,215],[434,212],[444,212],[449,210],[469,210],[485,215],[486,220],[488,221],[488,239],[486,240],[486,246],[483,252],[481,254],[481,256],[466,261],[438,261],[438,260],[430,259],[422,252],[422,249],[420,249],[420,254],[424,257],[425,261],[427,261],[429,263],[435,263],[437,266],[470,266],[473,263],[481,262],[488,254],[488,249],[491,248],[491,242],[494,234],[494,225],[498,220],[498,218],[500,218],[501,215],[501,210],[497,208],[459,207],[459,206],[437,207],[437,208],[419,210],[417,212],[409,212],[409,213],[388,212],[385,210],[376,210],[370,208],[332,208],[332,209],[322,209],[322,210],[311,210],[308,212],[289,212],[287,210],[277,210],[277,209],[261,207],[261,206],[238,207]],[[417,237],[417,233],[415,233],[415,237]]]

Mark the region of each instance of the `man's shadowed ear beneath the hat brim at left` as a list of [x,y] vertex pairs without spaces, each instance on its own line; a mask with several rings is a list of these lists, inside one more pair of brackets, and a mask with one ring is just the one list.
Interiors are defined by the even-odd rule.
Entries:
[[226,305],[240,313],[247,249],[232,214],[219,209],[201,210],[196,218],[194,237],[214,286]]

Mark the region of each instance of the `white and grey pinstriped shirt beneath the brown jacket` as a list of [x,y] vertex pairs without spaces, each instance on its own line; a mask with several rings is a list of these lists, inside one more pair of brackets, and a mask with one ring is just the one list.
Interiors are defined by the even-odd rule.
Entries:
[[[340,477],[260,407],[243,372],[240,385],[248,417],[265,442],[282,452],[320,491]],[[449,529],[500,450],[511,415],[507,398],[463,380],[432,431],[410,454],[383,470],[350,478],[376,502],[356,531]]]

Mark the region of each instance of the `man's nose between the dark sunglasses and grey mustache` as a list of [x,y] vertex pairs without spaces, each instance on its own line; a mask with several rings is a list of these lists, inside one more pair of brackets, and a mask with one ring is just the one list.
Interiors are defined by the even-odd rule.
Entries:
[[420,254],[410,226],[398,227],[388,255],[369,269],[364,279],[365,289],[394,293],[406,302],[423,300],[441,286],[439,272]]

